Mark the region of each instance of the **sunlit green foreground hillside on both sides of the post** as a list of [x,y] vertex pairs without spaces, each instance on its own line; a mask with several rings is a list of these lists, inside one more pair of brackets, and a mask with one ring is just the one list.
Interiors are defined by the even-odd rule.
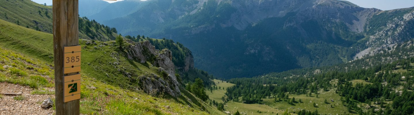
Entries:
[[[0,20],[0,31],[0,82],[31,86],[38,92],[43,87],[53,87],[52,34],[3,20]],[[91,44],[86,45],[86,42]],[[185,89],[181,89],[182,96],[178,98],[162,95],[154,97],[132,89],[139,84],[125,77],[125,72],[133,76],[159,74],[158,68],[148,62],[128,60],[118,53],[113,43],[80,40],[84,84],[81,93],[82,114],[224,114]],[[115,62],[116,65],[113,64]]]

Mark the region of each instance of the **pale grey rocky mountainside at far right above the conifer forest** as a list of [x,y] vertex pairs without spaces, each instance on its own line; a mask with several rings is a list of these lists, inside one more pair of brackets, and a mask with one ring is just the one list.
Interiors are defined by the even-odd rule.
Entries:
[[[385,18],[384,18],[385,17]],[[374,55],[381,49],[393,48],[396,44],[414,38],[414,7],[378,12],[366,23],[369,40],[365,50],[354,57]],[[372,32],[370,32],[372,31]]]

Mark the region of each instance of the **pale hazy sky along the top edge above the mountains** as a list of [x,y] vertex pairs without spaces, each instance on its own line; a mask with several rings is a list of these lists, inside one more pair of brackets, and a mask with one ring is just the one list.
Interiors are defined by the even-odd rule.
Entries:
[[[34,2],[38,2],[39,4],[46,3],[47,5],[52,4],[52,0],[32,0]],[[107,2],[117,2],[106,0]],[[414,0],[347,0],[352,2],[360,7],[366,8],[378,8],[380,10],[393,10],[399,8],[407,8],[407,7],[414,7]]]

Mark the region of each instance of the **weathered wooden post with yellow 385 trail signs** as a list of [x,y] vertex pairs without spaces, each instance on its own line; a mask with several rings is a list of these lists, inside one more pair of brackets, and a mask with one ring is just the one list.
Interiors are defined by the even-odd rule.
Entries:
[[78,0],[53,0],[56,115],[79,115],[78,17]]

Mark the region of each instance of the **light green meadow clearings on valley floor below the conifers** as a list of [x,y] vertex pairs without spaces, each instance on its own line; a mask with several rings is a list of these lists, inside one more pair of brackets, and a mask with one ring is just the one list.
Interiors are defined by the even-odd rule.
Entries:
[[[357,82],[355,80],[355,82]],[[224,103],[221,97],[225,96],[226,90],[223,90],[223,87],[226,89],[228,87],[234,86],[234,84],[222,82],[221,80],[214,79],[214,83],[217,87],[221,89],[214,89],[212,92],[207,91],[210,99],[217,101],[218,103]],[[334,84],[335,81],[332,81]],[[213,86],[214,87],[214,86]],[[278,101],[275,102],[274,98],[263,98],[262,104],[245,104],[229,101],[226,103],[225,110],[230,113],[236,112],[245,112],[249,115],[273,115],[273,114],[282,114],[284,110],[289,110],[290,112],[296,112],[298,110],[318,110],[319,113],[323,114],[343,114],[347,112],[347,107],[342,105],[340,101],[341,97],[335,93],[335,90],[331,91],[320,91],[318,97],[316,95],[307,96],[307,94],[295,95],[289,94],[289,98],[295,98],[296,102],[294,105],[288,103],[288,101]],[[324,100],[327,99],[328,103],[324,103]],[[301,102],[299,102],[301,100]],[[331,101],[333,100],[333,102]],[[317,107],[314,107],[313,103],[317,104]],[[332,107],[330,106],[332,105]],[[259,111],[259,112],[258,112]],[[252,114],[253,113],[253,114]]]

